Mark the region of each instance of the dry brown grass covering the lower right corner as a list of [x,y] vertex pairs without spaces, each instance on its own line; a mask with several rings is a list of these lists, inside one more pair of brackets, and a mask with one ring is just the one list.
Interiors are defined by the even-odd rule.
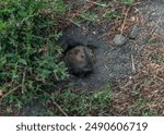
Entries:
[[115,94],[114,115],[164,115],[164,47],[144,48],[140,72]]

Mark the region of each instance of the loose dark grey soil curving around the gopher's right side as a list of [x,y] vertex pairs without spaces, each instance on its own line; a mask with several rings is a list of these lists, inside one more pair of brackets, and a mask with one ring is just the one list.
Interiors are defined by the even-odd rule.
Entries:
[[[99,38],[98,27],[87,30],[85,27],[67,28],[63,33],[63,44],[78,42],[93,48],[96,56],[94,72],[86,77],[74,77],[72,81],[79,88],[101,89],[106,83],[131,75],[131,48],[129,44],[115,46],[113,40]],[[91,33],[92,32],[92,33]]]

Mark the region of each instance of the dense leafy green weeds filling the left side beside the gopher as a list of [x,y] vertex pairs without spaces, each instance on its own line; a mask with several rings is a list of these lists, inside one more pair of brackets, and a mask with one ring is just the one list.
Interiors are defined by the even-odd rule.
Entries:
[[65,63],[58,59],[61,49],[51,40],[60,36],[58,30],[50,30],[59,22],[44,12],[50,10],[61,15],[66,5],[62,0],[2,0],[1,3],[0,88],[9,94],[19,87],[0,103],[3,109],[11,105],[20,110],[43,95],[44,87],[68,77]]

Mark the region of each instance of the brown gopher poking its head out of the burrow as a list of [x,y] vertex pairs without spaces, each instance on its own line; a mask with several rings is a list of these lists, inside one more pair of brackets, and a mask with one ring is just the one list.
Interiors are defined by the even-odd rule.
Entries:
[[85,76],[93,71],[95,54],[89,47],[77,46],[66,52],[63,60],[70,73]]

